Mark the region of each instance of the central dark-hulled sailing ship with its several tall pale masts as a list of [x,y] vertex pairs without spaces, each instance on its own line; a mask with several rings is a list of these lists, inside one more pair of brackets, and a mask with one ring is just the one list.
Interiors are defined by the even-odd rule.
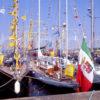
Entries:
[[[66,1],[66,7],[67,7],[67,1]],[[40,80],[46,84],[53,85],[56,87],[66,87],[66,88],[77,88],[79,85],[76,82],[75,75],[76,75],[76,68],[74,64],[68,59],[68,48],[63,48],[62,51],[65,50],[64,53],[62,53],[61,48],[63,42],[68,42],[68,37],[65,39],[64,36],[68,36],[68,32],[66,31],[68,28],[66,26],[67,24],[67,18],[66,23],[63,23],[63,31],[60,34],[61,26],[60,26],[60,0],[58,1],[58,9],[59,9],[59,15],[58,15],[58,33],[59,37],[56,40],[56,47],[55,51],[53,49],[46,50],[45,48],[42,48],[40,46],[40,37],[41,37],[41,21],[40,21],[40,7],[41,7],[41,1],[38,0],[38,40],[37,49],[34,49],[33,53],[31,52],[30,57],[30,66],[33,70],[33,77],[35,77],[37,80]],[[67,15],[66,15],[67,17]],[[68,45],[68,44],[65,44]],[[33,56],[33,57],[32,57]],[[76,62],[74,62],[76,63]]]

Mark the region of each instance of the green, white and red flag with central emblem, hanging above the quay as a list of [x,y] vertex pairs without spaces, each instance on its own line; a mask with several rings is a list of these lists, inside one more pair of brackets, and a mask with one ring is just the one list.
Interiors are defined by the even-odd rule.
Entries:
[[94,78],[93,70],[94,64],[92,61],[91,53],[87,47],[85,39],[83,38],[82,46],[79,52],[79,65],[76,76],[81,91],[88,91],[92,87]]

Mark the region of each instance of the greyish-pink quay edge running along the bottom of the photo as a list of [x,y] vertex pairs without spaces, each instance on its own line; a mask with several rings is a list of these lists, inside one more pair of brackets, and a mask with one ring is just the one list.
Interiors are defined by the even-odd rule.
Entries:
[[12,98],[7,100],[99,100],[100,91],[81,92],[72,94]]

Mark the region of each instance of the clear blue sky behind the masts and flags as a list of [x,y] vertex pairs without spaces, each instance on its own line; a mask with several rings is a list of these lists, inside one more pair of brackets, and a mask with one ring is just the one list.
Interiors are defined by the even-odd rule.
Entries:
[[[12,11],[13,0],[0,0],[0,9],[4,8],[5,13],[0,13],[0,44],[4,45],[8,41],[8,37],[11,34],[10,23],[12,16],[8,12]],[[60,0],[60,20],[58,0],[40,0],[41,1],[41,41],[46,43],[54,41],[57,36],[54,34],[57,31],[58,21],[60,26],[66,22],[66,3],[65,0]],[[86,41],[90,47],[91,41],[91,18],[88,16],[88,8],[90,8],[91,0],[67,0],[68,1],[68,47],[71,49],[79,48],[82,42],[82,29],[86,33]],[[94,0],[94,15],[100,17],[100,0]],[[78,18],[75,19],[74,8],[77,6]],[[25,24],[26,37],[29,31],[30,19],[33,19],[33,32],[38,32],[38,0],[19,0],[19,23],[18,34],[22,33],[23,21],[21,16],[26,15],[27,19]],[[94,32],[95,32],[95,44],[94,47],[100,47],[100,18],[95,18]],[[61,29],[62,30],[62,29]],[[62,31],[60,32],[62,33]],[[45,34],[44,34],[45,33]],[[34,35],[35,36],[35,35]],[[66,37],[65,37],[66,38]],[[55,42],[55,41],[54,41]],[[52,42],[52,43],[54,43]],[[41,43],[41,44],[42,44]],[[62,44],[64,46],[64,43]]]

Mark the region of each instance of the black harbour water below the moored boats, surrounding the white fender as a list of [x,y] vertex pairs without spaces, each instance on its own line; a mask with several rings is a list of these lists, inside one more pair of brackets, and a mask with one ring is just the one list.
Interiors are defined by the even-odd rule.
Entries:
[[[6,83],[9,80],[8,77],[0,74],[0,85]],[[44,84],[35,79],[24,78],[21,82],[21,92],[15,94],[14,92],[14,82],[5,87],[0,88],[0,99],[6,98],[16,98],[16,97],[31,97],[31,96],[47,96],[56,94],[68,94],[74,93],[75,90],[69,88],[59,88]],[[93,84],[93,88],[90,90],[100,90],[99,83]]]

